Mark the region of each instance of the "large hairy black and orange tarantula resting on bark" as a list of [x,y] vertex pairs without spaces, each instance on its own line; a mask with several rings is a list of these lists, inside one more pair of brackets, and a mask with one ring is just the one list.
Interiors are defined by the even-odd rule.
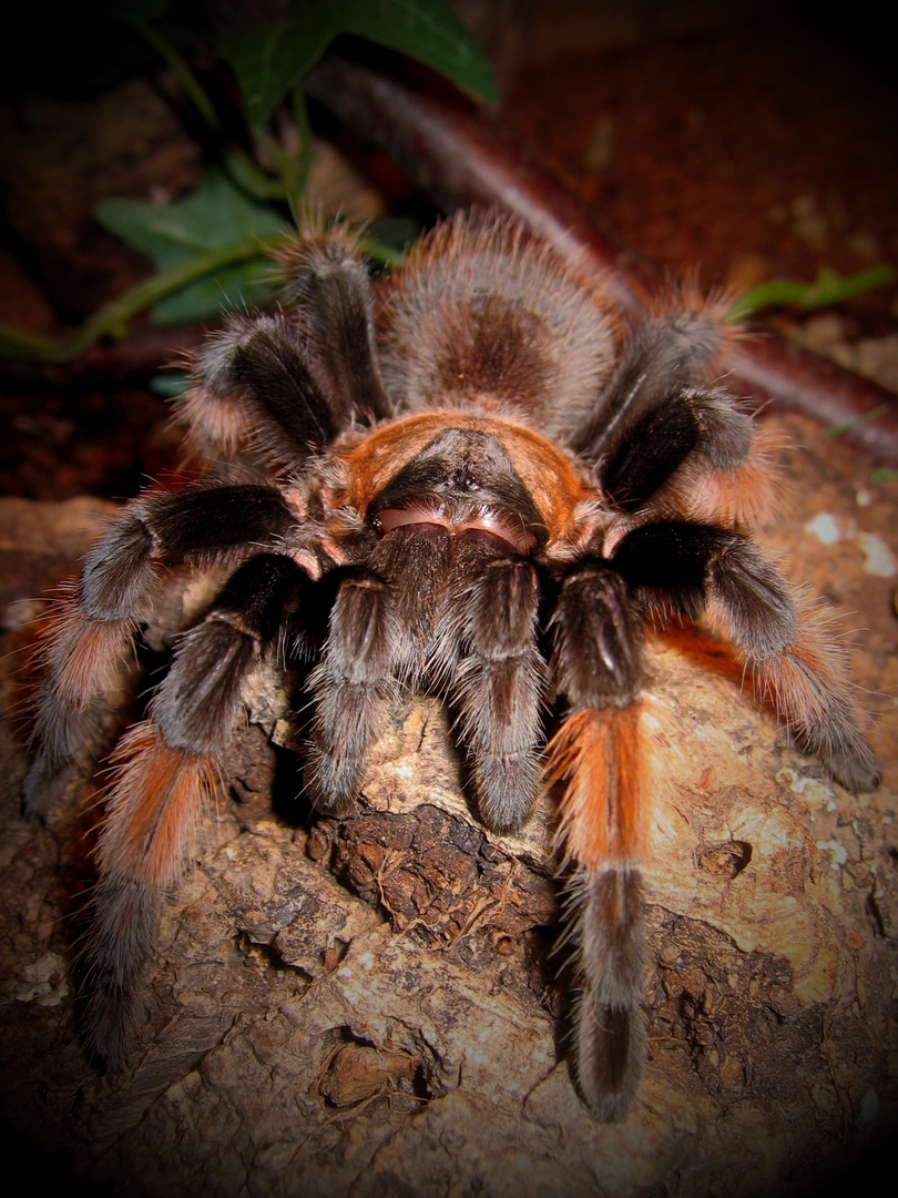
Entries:
[[341,228],[308,230],[281,268],[283,307],[230,317],[178,401],[204,480],[126,509],[44,643],[38,811],[165,564],[233,563],[111,758],[87,1043],[109,1063],[128,1048],[158,896],[245,679],[310,647],[304,785],[321,807],[352,807],[402,688],[450,704],[491,829],[558,792],[575,1076],[596,1118],[620,1118],[643,1055],[647,623],[710,617],[836,779],[879,781],[839,653],[746,531],[766,476],[753,420],[712,381],[721,305],[674,290],[627,327],[494,214],[442,224],[392,278],[372,282]]

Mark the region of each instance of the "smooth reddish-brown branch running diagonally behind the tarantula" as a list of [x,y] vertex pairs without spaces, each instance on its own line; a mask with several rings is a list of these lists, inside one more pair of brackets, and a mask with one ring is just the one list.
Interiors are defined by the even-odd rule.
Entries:
[[[514,212],[564,258],[609,277],[620,304],[642,305],[661,273],[539,170],[493,121],[469,105],[436,101],[395,79],[338,59],[313,71],[308,90],[387,156],[444,211],[494,204]],[[775,400],[844,435],[882,462],[898,462],[898,401],[757,325],[730,358],[730,387],[757,403]],[[870,413],[881,415],[875,419]]]

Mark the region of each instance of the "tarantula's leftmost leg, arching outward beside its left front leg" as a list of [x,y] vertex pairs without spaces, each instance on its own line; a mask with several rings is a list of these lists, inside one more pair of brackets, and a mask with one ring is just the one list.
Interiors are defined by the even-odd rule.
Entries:
[[131,652],[163,564],[207,565],[277,545],[293,526],[269,486],[192,486],[138,500],[91,550],[40,647],[45,682],[36,715],[38,750],[24,785],[28,811],[47,811],[56,781],[95,738],[97,707]]

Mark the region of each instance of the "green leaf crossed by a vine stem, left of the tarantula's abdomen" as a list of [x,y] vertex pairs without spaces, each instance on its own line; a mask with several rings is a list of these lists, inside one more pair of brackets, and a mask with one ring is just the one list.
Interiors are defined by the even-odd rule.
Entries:
[[247,199],[220,171],[211,171],[182,200],[158,205],[113,198],[102,200],[93,216],[108,232],[151,258],[160,273],[229,246],[260,242],[257,255],[223,266],[157,303],[152,317],[158,325],[206,320],[261,303],[271,291],[261,242],[277,237],[285,224],[272,208]]

